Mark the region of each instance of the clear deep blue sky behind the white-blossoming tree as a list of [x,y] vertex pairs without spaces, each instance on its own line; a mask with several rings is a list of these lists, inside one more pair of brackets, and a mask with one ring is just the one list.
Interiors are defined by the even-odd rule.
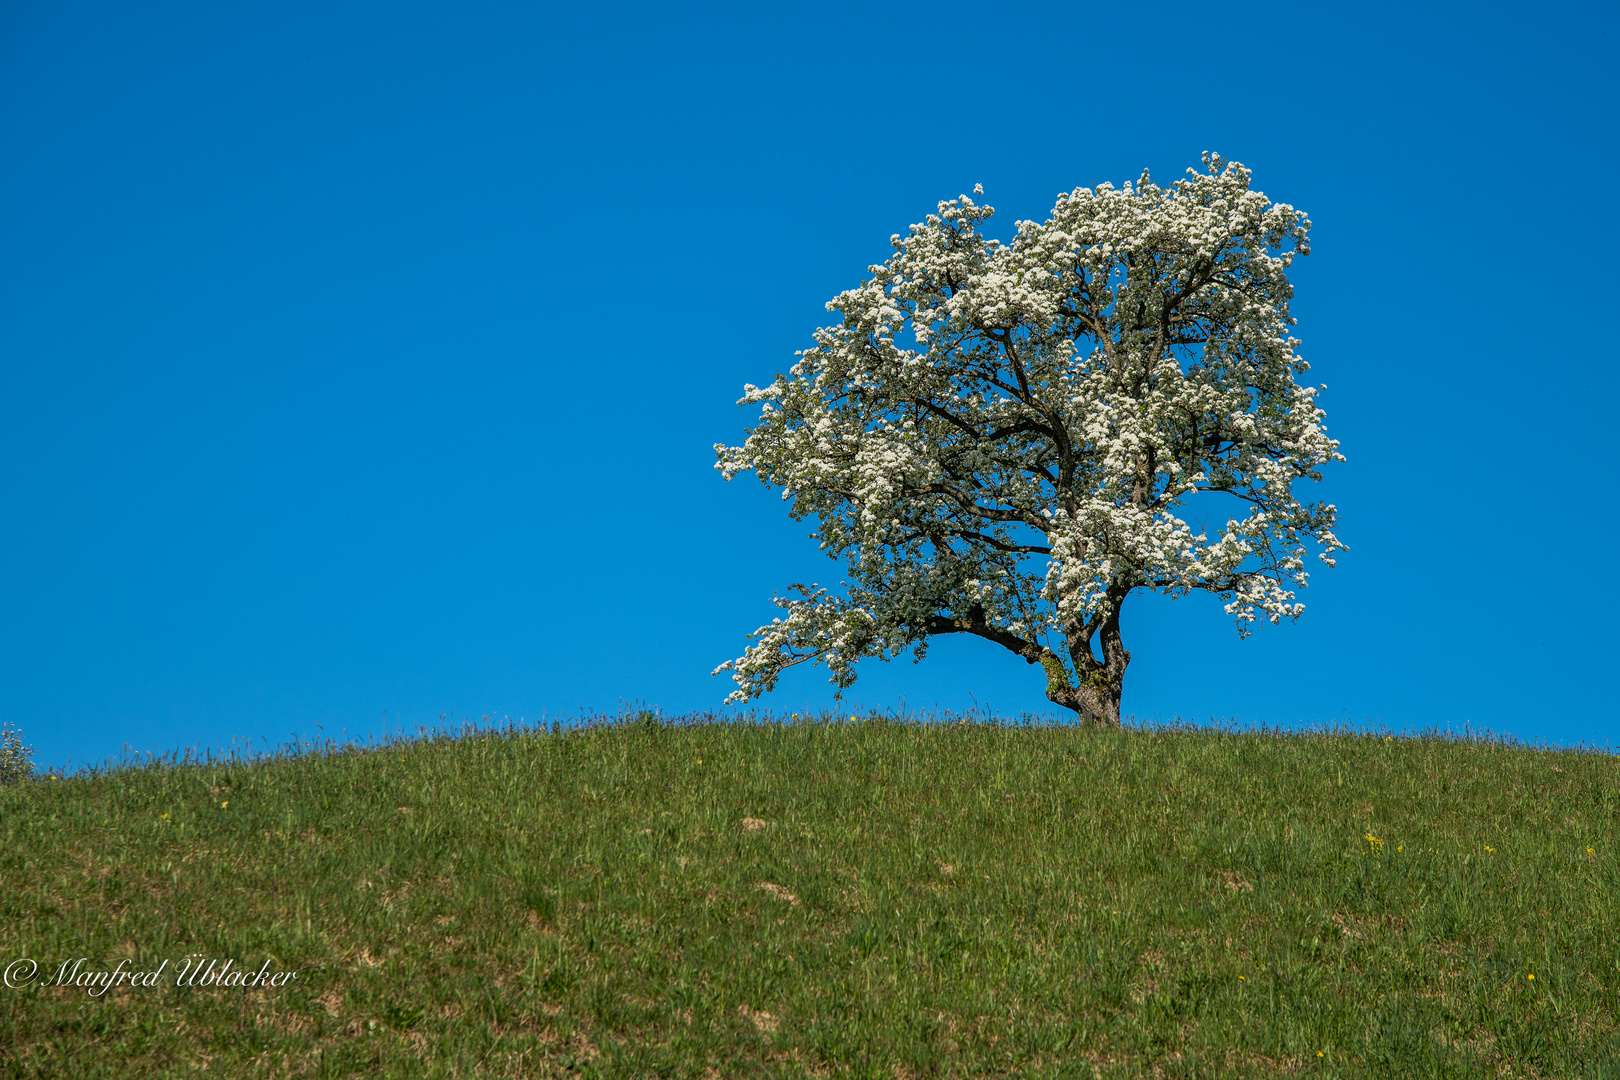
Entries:
[[[44,764],[718,706],[838,567],[713,471],[938,199],[1218,151],[1314,220],[1349,554],[1124,711],[1620,730],[1609,5],[0,8],[0,719]],[[995,232],[995,228],[991,230]],[[982,641],[847,701],[1047,709]],[[821,669],[765,699],[821,708]]]

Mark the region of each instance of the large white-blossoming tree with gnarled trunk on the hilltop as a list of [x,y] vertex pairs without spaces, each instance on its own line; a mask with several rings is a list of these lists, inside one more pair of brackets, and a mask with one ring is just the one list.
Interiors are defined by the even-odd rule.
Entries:
[[[763,413],[716,468],[779,486],[849,580],[776,597],[786,617],[714,670],[727,701],[805,661],[844,688],[862,657],[967,633],[1116,725],[1136,589],[1215,593],[1239,636],[1299,617],[1307,544],[1330,567],[1345,549],[1335,508],[1294,495],[1345,460],[1294,381],[1286,270],[1311,222],[1238,162],[1204,165],[1076,188],[1006,244],[980,232],[991,207],[941,202],[828,303],[841,322],[787,376],[745,387]],[[1194,531],[1196,513],[1225,523]]]

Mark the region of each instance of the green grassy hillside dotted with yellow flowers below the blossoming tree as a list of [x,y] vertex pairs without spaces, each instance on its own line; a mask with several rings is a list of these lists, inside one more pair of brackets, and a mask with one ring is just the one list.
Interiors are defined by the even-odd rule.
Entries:
[[[598,725],[0,789],[0,1075],[1617,1077],[1620,761]],[[1534,976],[1534,978],[1531,978]]]

